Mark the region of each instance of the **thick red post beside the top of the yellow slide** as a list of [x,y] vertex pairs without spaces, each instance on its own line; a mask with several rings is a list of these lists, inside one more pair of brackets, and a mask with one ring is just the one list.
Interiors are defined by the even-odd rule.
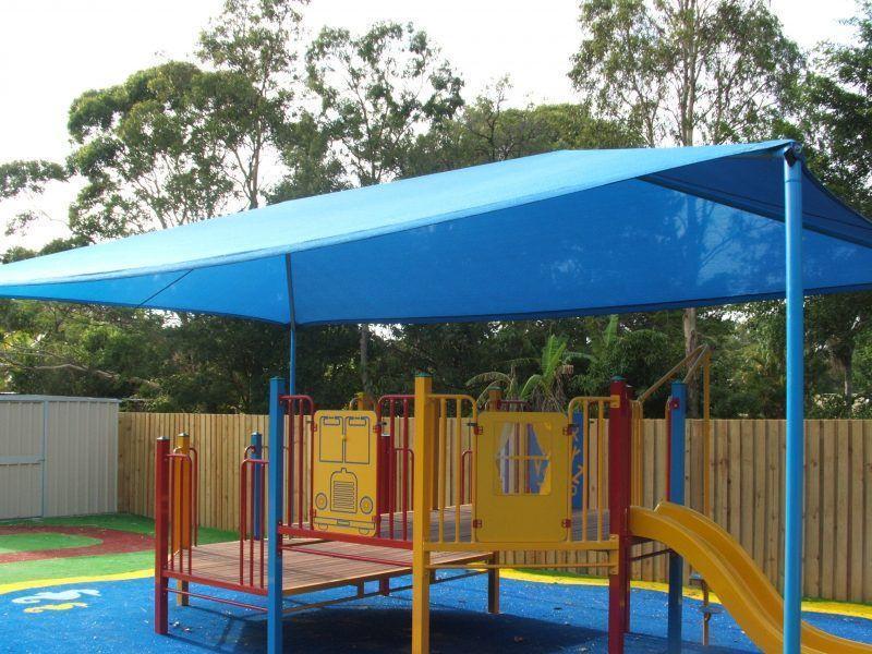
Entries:
[[608,507],[609,533],[618,537],[617,569],[608,577],[608,651],[623,653],[623,634],[630,626],[630,474],[632,391],[620,377],[609,387]]

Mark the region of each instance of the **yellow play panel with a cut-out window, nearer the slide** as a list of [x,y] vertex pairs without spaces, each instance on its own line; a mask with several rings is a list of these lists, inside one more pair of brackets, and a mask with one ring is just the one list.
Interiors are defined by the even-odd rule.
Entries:
[[479,414],[475,537],[482,543],[566,541],[571,525],[572,435],[566,414]]

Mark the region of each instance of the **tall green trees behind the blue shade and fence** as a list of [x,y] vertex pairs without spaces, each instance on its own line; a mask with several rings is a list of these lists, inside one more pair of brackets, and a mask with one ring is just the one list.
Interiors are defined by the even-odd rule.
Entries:
[[[331,26],[308,37],[307,4],[227,0],[192,35],[191,60],[131,71],[73,98],[66,161],[0,164],[0,209],[15,207],[2,261],[561,148],[777,136],[802,141],[812,170],[872,213],[869,1],[850,17],[849,45],[802,52],[762,0],[582,0],[567,70],[577,101],[561,104],[512,101],[508,76],[464,94],[462,71],[421,26]],[[16,239],[41,218],[39,195],[69,183],[83,184],[70,238],[23,247]],[[807,306],[809,414],[872,415],[872,293]],[[288,370],[282,329],[233,318],[2,300],[0,325],[2,390],[258,412],[267,379]],[[446,391],[499,384],[556,407],[602,393],[613,375],[644,388],[700,342],[715,351],[714,415],[783,415],[780,302],[302,329],[299,387],[339,405],[362,388],[408,391],[412,373],[427,371]]]

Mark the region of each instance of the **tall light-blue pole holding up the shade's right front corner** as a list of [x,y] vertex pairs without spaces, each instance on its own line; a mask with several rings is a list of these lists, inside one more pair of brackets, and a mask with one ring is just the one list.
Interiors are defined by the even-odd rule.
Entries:
[[785,290],[787,301],[787,451],[785,455],[784,652],[798,654],[802,601],[803,327],[802,162],[784,150]]

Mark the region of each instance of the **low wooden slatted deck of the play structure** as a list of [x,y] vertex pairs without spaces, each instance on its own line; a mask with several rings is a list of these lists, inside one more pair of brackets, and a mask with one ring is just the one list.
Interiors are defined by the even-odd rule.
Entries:
[[[409,549],[361,545],[340,541],[294,540],[282,550],[284,595],[300,595],[337,586],[356,585],[365,581],[402,577],[412,572],[412,553]],[[330,554],[339,556],[329,556]],[[342,556],[350,558],[340,558]],[[434,564],[467,564],[489,558],[491,553],[448,553],[432,555]],[[359,557],[359,558],[358,558]],[[379,559],[378,562],[365,559]],[[240,581],[239,541],[197,545],[191,552],[191,574],[187,574],[187,555],[184,557],[183,572],[168,571],[167,577],[183,579],[192,583],[203,583],[219,588],[244,590],[265,594],[267,589],[266,570],[268,555],[264,552],[264,581],[261,585],[259,546],[254,559],[252,584],[247,544],[243,566],[243,582]],[[240,585],[253,588],[240,589]]]

